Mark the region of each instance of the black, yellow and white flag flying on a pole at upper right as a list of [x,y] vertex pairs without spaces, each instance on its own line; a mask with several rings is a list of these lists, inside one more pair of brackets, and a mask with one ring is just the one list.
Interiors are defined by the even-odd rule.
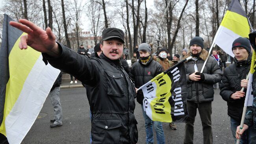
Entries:
[[232,0],[215,34],[213,43],[216,43],[227,54],[234,57],[231,50],[233,41],[239,37],[249,38],[249,33],[250,25],[245,11],[239,0]]

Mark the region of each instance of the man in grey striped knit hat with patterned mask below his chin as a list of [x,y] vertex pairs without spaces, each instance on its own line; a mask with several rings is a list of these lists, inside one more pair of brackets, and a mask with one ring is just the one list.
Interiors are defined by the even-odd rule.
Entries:
[[[139,88],[155,76],[160,74],[163,70],[161,65],[154,61],[151,58],[151,47],[147,43],[141,43],[139,45],[139,61],[135,62],[132,65],[132,70],[130,72],[130,76],[134,79],[135,87]],[[152,121],[146,114],[143,108],[143,92],[139,90],[137,92],[137,102],[141,104],[142,113],[145,119],[145,129],[146,129],[146,143],[153,144],[153,126],[156,131],[156,139],[158,144],[165,144],[165,137],[163,133],[163,127],[161,122]]]

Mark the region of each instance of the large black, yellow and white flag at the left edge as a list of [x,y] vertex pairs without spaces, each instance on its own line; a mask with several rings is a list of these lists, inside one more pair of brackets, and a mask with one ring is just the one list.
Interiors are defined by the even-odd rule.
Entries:
[[0,48],[0,142],[20,144],[35,122],[59,70],[45,65],[41,52],[19,49],[26,34],[9,25],[4,15]]

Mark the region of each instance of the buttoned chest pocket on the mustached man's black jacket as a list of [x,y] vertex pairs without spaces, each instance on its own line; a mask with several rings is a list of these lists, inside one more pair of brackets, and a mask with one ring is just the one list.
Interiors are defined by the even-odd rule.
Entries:
[[108,95],[123,97],[124,96],[124,82],[123,75],[119,72],[112,72],[110,70],[105,70],[107,77],[106,83],[108,88]]

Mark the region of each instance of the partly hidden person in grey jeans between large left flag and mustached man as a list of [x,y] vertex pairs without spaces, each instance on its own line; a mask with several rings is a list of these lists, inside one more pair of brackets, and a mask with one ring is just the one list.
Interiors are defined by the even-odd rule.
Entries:
[[54,119],[51,119],[50,122],[53,122],[53,124],[50,125],[50,128],[57,128],[59,126],[62,126],[62,107],[59,99],[59,91],[60,91],[60,85],[61,85],[61,78],[62,78],[62,72],[59,73],[59,76],[57,77],[56,81],[54,82],[50,93],[48,96],[50,96],[52,106],[54,108]]

